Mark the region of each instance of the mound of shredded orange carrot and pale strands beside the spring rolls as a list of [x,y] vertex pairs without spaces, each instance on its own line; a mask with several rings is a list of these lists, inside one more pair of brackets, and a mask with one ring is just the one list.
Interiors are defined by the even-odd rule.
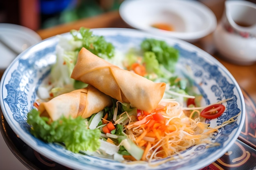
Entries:
[[[155,120],[153,117],[155,113],[162,114],[164,119]],[[226,121],[225,124],[232,121],[235,121],[234,118]],[[124,125],[128,138],[144,148],[141,160],[149,163],[153,159],[169,160],[172,156],[197,144],[218,145],[211,142],[210,137],[218,132],[220,127],[210,128],[209,124],[203,123],[200,117],[187,116],[177,101],[169,99],[163,99],[153,112],[144,114],[143,119],[139,121],[130,119],[130,122]]]

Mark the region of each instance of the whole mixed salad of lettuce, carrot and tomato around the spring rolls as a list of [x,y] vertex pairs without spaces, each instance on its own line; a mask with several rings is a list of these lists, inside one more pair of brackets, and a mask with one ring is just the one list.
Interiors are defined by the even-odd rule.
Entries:
[[90,29],[72,30],[71,35],[71,39],[59,36],[50,82],[38,88],[36,108],[27,114],[27,123],[31,125],[31,133],[35,137],[63,144],[72,152],[121,162],[151,162],[162,158],[168,158],[165,159],[168,161],[173,159],[173,155],[196,144],[218,145],[209,140],[211,135],[218,132],[218,128],[235,121],[231,118],[215,128],[209,128],[209,124],[204,123],[205,118],[220,116],[225,111],[221,103],[228,99],[200,107],[202,96],[195,93],[193,82],[175,73],[179,51],[156,39],[143,40],[140,51],[130,49],[119,66],[153,82],[166,83],[163,99],[151,113],[112,98],[111,106],[85,119],[63,115],[51,121],[41,116],[37,109],[40,102],[88,86],[70,78],[77,55],[83,47],[110,62],[120,57],[110,42],[103,36],[93,35]]

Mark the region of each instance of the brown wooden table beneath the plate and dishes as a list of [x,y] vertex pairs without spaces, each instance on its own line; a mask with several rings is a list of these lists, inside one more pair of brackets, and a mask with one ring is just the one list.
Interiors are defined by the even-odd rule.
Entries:
[[[38,30],[37,33],[41,36],[42,39],[49,38],[51,36],[69,32],[71,29],[78,30],[81,26],[87,28],[105,28],[105,27],[117,27],[117,28],[130,28],[128,24],[126,24],[120,17],[118,11],[112,11],[109,13],[104,13],[102,15],[98,15],[92,18],[86,18],[83,20],[78,20],[75,22],[71,22],[68,24],[63,24],[59,26],[55,26],[49,29]],[[238,82],[239,86],[242,88],[245,100],[246,100],[246,108],[247,112],[249,112],[250,117],[247,117],[247,123],[250,119],[250,125],[245,124],[243,132],[241,133],[240,137],[237,139],[236,143],[231,147],[230,152],[237,151],[237,157],[234,158],[230,157],[229,153],[223,155],[220,159],[216,162],[212,163],[211,165],[203,168],[205,170],[210,169],[248,169],[252,167],[256,167],[255,159],[256,159],[256,133],[255,133],[255,123],[256,123],[256,64],[250,66],[239,66],[235,64],[231,64],[228,61],[222,60],[221,55],[214,51],[209,50],[212,49],[212,42],[211,42],[212,35],[209,35],[194,44],[203,50],[209,52],[211,55],[216,57],[234,76],[236,81]],[[249,130],[248,130],[249,128]],[[7,139],[11,142],[10,139]],[[16,139],[17,140],[17,139]],[[22,141],[19,141],[22,143]],[[13,146],[15,148],[17,146]],[[28,148],[29,149],[29,148]],[[30,148],[31,150],[31,148]],[[32,152],[32,151],[31,151]],[[34,169],[40,163],[42,166],[42,162],[36,160],[32,156],[25,155],[24,153],[19,152],[18,157],[23,157],[20,159],[22,163],[26,166],[29,163],[32,163],[31,169]],[[42,159],[40,157],[40,159]],[[236,161],[234,161],[236,160]],[[43,168],[47,168],[45,165]],[[65,167],[56,164],[55,169],[65,169]]]

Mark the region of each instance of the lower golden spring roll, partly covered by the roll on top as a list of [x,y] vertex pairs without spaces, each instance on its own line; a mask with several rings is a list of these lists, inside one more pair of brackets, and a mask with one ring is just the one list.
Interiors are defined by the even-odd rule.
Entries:
[[87,118],[111,104],[110,96],[93,86],[88,86],[56,96],[48,102],[42,102],[38,111],[40,116],[49,117],[52,121],[59,119],[62,115],[73,118],[78,116]]

